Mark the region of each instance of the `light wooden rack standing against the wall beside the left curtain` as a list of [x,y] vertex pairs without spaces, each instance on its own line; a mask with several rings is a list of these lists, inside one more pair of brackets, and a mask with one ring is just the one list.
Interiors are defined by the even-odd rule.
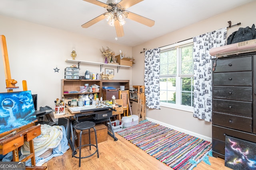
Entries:
[[140,121],[146,119],[146,107],[145,107],[145,86],[130,86],[130,104],[132,106],[132,102],[138,102],[141,104],[141,113],[140,113]]

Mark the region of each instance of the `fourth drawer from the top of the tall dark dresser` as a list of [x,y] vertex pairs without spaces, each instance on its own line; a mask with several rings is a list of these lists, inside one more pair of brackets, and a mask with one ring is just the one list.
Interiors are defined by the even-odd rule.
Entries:
[[252,102],[213,99],[212,111],[252,117]]

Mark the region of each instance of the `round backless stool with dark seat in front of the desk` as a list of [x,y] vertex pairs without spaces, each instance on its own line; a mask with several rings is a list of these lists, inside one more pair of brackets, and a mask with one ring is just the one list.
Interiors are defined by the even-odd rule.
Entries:
[[[99,158],[99,151],[98,151],[98,142],[97,142],[97,134],[96,134],[96,129],[95,129],[95,123],[93,121],[83,121],[83,122],[80,122],[78,124],[76,124],[74,126],[74,135],[76,135],[76,130],[80,130],[80,140],[79,140],[79,146],[77,148],[75,148],[75,142],[73,140],[73,152],[72,152],[72,157],[75,157],[75,158],[79,158],[79,167],[81,166],[81,158],[88,158],[94,154],[98,154],[98,158]],[[93,128],[94,129],[94,134],[95,134],[95,141],[96,141],[96,145],[92,145],[91,144],[91,133],[90,133],[90,129]],[[83,130],[86,130],[88,129],[89,131],[89,144],[85,144],[85,145],[82,145],[82,132]],[[96,147],[96,150],[94,153],[88,155],[88,156],[83,156],[81,157],[81,148],[84,147],[84,146],[89,146],[90,147],[90,150],[91,150],[91,146],[94,146]],[[77,153],[76,150],[79,149],[79,157],[78,156],[75,156],[75,154]]]

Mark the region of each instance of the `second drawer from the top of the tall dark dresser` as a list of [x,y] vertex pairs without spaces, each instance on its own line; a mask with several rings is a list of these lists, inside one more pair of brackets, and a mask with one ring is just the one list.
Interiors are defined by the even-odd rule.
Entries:
[[220,72],[213,74],[214,86],[252,86],[252,72]]

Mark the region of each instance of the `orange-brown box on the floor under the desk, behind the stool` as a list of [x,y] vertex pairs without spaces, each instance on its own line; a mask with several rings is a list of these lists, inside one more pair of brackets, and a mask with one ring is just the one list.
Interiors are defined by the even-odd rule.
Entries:
[[[95,125],[95,129],[96,129],[96,133],[97,133],[97,142],[98,143],[108,140],[108,127],[106,127],[104,124],[100,123],[100,124]],[[95,145],[96,141],[95,141],[95,133],[94,133],[93,128],[90,129],[90,133],[91,133],[91,143]],[[79,140],[80,140],[80,131],[79,130],[76,130],[75,139],[76,139],[76,141],[75,141],[76,147],[78,147]],[[83,130],[82,145],[86,145],[86,144],[89,144],[89,131]]]

